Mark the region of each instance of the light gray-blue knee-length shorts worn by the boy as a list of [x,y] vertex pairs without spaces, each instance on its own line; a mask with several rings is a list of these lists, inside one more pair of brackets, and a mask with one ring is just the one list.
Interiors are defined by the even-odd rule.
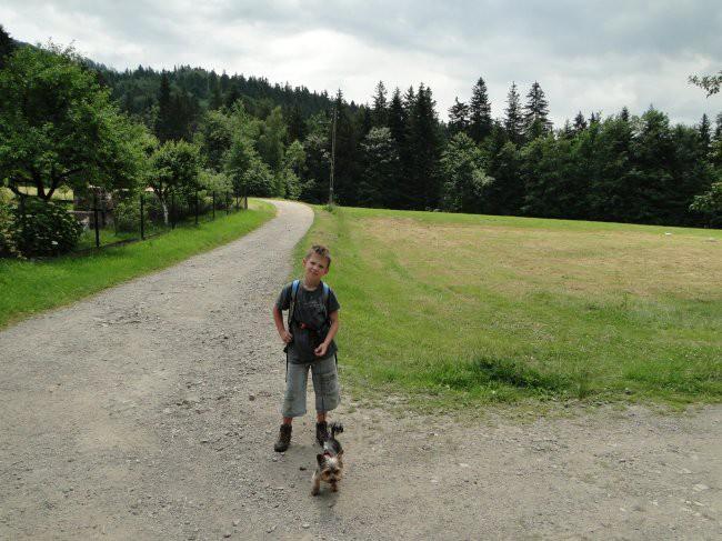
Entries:
[[300,417],[305,413],[305,388],[309,368],[311,369],[313,392],[315,393],[315,411],[323,413],[339,405],[341,397],[335,355],[308,363],[289,362],[281,415]]

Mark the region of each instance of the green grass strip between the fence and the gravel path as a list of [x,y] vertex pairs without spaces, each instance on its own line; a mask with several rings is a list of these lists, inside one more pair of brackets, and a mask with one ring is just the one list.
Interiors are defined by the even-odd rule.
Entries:
[[218,216],[198,227],[177,228],[130,244],[49,260],[0,259],[0,327],[57,308],[237,239],[271,219],[271,204]]

